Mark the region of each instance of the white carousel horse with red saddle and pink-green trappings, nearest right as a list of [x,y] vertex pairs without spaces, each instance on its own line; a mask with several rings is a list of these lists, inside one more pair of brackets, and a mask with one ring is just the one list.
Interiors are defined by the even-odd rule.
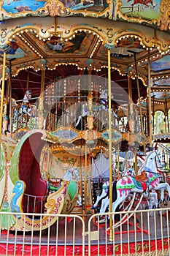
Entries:
[[[139,169],[139,176],[124,176],[113,183],[112,212],[115,212],[117,206],[119,206],[131,192],[138,192],[144,195],[144,192],[148,192],[152,189],[161,190],[161,200],[163,200],[164,189],[166,189],[170,197],[169,184],[166,182],[161,183],[160,172],[158,172],[155,163],[155,157],[157,157],[157,155],[157,151],[151,151],[147,155],[144,165]],[[169,200],[169,197],[167,200]],[[136,208],[138,207],[139,204]]]

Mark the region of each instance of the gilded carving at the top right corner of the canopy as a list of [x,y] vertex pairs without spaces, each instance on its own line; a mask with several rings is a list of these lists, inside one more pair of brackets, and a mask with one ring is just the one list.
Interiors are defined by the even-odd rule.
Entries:
[[161,30],[168,30],[170,28],[170,1],[162,0],[160,4],[162,15],[158,18],[158,26]]

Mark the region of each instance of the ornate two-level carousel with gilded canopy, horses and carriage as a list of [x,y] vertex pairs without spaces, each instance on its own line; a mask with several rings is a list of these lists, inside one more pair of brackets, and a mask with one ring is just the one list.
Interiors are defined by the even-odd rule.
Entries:
[[167,204],[169,1],[0,6],[1,230]]

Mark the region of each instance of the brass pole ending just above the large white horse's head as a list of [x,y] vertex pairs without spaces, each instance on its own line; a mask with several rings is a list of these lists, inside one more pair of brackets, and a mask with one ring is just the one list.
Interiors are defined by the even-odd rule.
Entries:
[[152,105],[151,105],[151,84],[150,84],[150,50],[148,50],[148,107],[149,107],[149,127],[150,127],[150,147],[152,147]]

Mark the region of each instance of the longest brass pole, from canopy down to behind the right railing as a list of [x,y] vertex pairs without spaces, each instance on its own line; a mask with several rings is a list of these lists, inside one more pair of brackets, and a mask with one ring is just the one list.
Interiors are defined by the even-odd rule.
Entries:
[[[108,96],[109,96],[109,212],[112,212],[112,115],[111,115],[111,65],[108,49]],[[112,216],[109,218],[109,240],[113,240]]]

